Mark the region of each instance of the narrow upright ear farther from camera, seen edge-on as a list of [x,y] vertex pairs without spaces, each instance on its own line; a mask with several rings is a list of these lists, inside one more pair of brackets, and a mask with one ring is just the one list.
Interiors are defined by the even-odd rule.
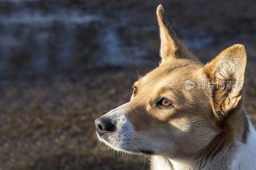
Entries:
[[188,48],[182,44],[176,33],[172,30],[172,27],[165,17],[164,8],[161,4],[157,7],[156,15],[161,39],[160,65],[174,57],[197,60],[196,57],[188,51]]

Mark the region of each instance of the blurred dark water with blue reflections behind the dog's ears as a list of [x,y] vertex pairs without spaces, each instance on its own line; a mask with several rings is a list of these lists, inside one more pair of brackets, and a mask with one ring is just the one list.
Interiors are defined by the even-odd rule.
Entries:
[[[147,64],[158,53],[157,23],[134,24],[122,12],[109,14],[40,0],[1,0],[0,9],[1,76]],[[205,48],[213,41],[210,35],[188,28],[177,33],[191,49]]]

